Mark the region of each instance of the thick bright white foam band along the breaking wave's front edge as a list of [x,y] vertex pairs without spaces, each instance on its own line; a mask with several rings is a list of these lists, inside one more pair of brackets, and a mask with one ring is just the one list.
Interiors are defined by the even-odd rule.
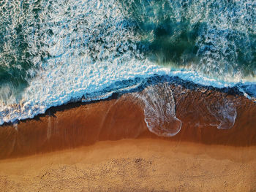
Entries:
[[[184,80],[191,80],[201,85],[211,85],[218,88],[235,85],[209,79],[196,72],[175,71],[156,66],[144,61],[131,59],[122,61],[116,58],[101,64],[79,64],[76,60],[73,65],[61,65],[54,69],[45,68],[42,74],[31,81],[31,85],[23,93],[23,100],[19,104],[4,105],[0,107],[0,123],[20,119],[33,118],[34,115],[44,113],[49,107],[65,104],[72,99],[87,96],[83,101],[91,99],[104,99],[110,96],[105,88],[122,80],[146,78],[154,74],[167,74],[178,76]],[[107,70],[106,70],[107,69]],[[127,88],[129,89],[129,88]]]

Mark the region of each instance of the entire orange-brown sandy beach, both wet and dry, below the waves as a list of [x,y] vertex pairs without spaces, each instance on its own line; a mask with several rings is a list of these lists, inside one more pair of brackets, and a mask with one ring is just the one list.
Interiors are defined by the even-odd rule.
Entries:
[[[53,107],[0,128],[2,191],[256,191],[256,104],[173,85],[181,131],[148,131],[143,105],[118,99]],[[236,104],[233,128],[207,107]],[[225,101],[226,101],[225,100]]]

